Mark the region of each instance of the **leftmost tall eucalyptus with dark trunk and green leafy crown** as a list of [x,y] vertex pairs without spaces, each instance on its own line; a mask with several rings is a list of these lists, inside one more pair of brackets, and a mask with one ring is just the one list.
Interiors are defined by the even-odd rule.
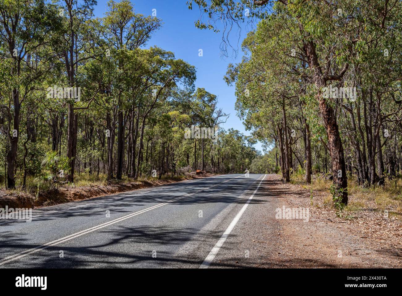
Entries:
[[[0,2],[0,41],[2,58],[10,67],[7,97],[10,99],[7,152],[7,187],[15,187],[15,161],[20,137],[21,106],[46,72],[52,33],[59,29],[53,4],[44,0]],[[12,127],[11,127],[12,125]]]

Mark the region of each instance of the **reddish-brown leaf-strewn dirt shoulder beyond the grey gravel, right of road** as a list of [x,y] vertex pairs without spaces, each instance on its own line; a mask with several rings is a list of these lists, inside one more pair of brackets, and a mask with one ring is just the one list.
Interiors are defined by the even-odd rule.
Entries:
[[[265,221],[276,224],[269,241],[256,237],[266,259],[255,267],[402,267],[402,226],[381,213],[360,213],[352,220],[323,205],[323,195],[267,175],[261,189],[269,201]],[[329,194],[328,194],[329,195]],[[353,197],[351,197],[353,199]],[[311,204],[313,203],[313,205]],[[309,219],[277,219],[276,209],[308,208]]]

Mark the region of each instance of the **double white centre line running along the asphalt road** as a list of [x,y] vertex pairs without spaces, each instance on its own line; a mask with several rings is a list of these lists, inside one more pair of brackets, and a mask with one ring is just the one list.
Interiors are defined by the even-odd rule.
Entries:
[[239,177],[242,177],[242,176],[244,176],[244,175],[240,175],[240,176],[231,178],[231,179],[229,179],[229,180],[220,182],[220,183],[218,183],[218,184],[211,185],[211,186],[205,187],[205,188],[203,188],[203,189],[197,190],[197,191],[195,191],[195,192],[193,192],[193,193],[189,193],[189,194],[183,195],[182,197],[177,197],[177,198],[172,199],[172,200],[170,200],[170,201],[166,201],[166,202],[164,202],[164,203],[160,203],[160,204],[158,204],[158,205],[154,205],[154,206],[152,206],[152,207],[148,207],[148,208],[143,209],[143,210],[141,210],[141,211],[137,211],[137,212],[134,212],[134,213],[125,215],[125,216],[123,216],[123,217],[114,219],[114,220],[112,220],[112,221],[105,222],[105,223],[103,223],[103,224],[100,224],[100,225],[97,225],[97,226],[94,226],[94,227],[91,227],[91,228],[82,230],[82,231],[80,231],[80,232],[76,232],[76,233],[74,233],[74,234],[70,234],[69,236],[65,236],[65,237],[63,237],[63,238],[59,238],[58,240],[53,240],[52,242],[48,242],[48,243],[43,244],[43,245],[41,245],[41,246],[36,246],[35,248],[31,248],[31,249],[25,250],[25,251],[23,251],[23,252],[20,252],[20,253],[17,253],[17,254],[8,256],[8,257],[4,258],[2,261],[0,261],[0,266],[6,264],[6,263],[8,263],[8,262],[14,261],[14,260],[16,260],[16,259],[23,258],[23,257],[25,257],[25,256],[27,256],[27,255],[31,255],[31,254],[33,254],[33,253],[39,252],[40,250],[47,249],[47,248],[49,248],[49,247],[51,247],[51,246],[55,246],[55,245],[57,245],[57,244],[61,244],[62,242],[66,242],[66,241],[68,241],[68,240],[72,240],[73,238],[77,238],[77,237],[82,236],[82,235],[84,235],[84,234],[87,234],[87,233],[90,233],[90,232],[94,232],[95,230],[98,230],[98,229],[107,227],[107,226],[109,226],[109,225],[115,224],[115,223],[120,222],[120,221],[123,221],[123,220],[125,220],[125,219],[129,219],[129,218],[134,217],[134,216],[136,216],[136,215],[139,215],[139,214],[148,212],[148,211],[153,210],[153,209],[156,209],[156,208],[158,208],[158,207],[162,207],[163,205],[167,205],[167,204],[172,203],[172,202],[174,202],[174,201],[178,201],[179,199],[183,199],[183,198],[185,198],[185,197],[189,197],[190,195],[194,195],[194,194],[199,193],[199,192],[201,192],[201,191],[203,191],[203,190],[209,189],[209,188],[211,188],[211,187],[215,187],[215,186],[217,186],[217,185],[219,185],[219,184],[222,184],[222,183],[229,182],[229,181],[231,181],[231,180],[233,180],[233,179],[236,179],[236,178],[239,178]]

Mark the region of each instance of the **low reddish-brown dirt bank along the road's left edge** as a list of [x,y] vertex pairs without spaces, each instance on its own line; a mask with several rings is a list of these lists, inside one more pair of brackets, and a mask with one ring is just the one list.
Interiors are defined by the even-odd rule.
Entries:
[[102,197],[115,193],[122,193],[132,191],[141,188],[160,186],[184,180],[207,178],[211,176],[217,176],[209,173],[202,173],[196,175],[190,173],[183,178],[172,179],[150,179],[146,181],[111,184],[111,185],[91,185],[91,186],[79,186],[79,187],[59,187],[47,192],[40,192],[38,197],[24,190],[0,190],[0,208],[4,208],[6,205],[9,208],[38,208],[47,207],[51,205],[57,205],[61,203],[68,203],[71,201],[78,201],[83,199],[90,199],[94,197]]

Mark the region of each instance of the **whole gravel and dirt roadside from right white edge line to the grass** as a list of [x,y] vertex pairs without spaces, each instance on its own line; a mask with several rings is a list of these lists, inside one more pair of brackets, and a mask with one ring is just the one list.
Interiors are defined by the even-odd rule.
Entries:
[[[260,202],[248,206],[225,243],[234,250],[218,253],[211,267],[402,267],[399,238],[362,238],[360,224],[336,216],[328,219],[322,209],[310,205],[309,196],[299,185],[267,175],[254,196]],[[308,221],[277,219],[283,207],[308,208]]]

